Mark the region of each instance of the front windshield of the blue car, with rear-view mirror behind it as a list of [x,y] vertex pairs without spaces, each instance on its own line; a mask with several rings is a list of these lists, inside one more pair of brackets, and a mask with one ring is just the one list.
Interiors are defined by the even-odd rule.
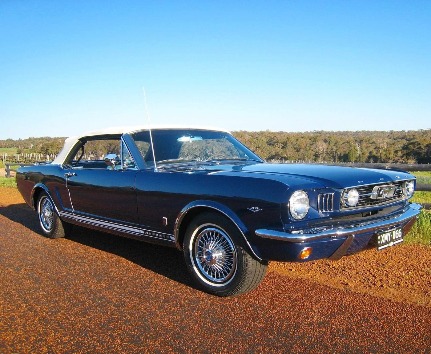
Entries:
[[[224,132],[195,129],[152,130],[154,154],[157,164],[190,163],[193,161],[245,161],[263,162],[251,150]],[[150,133],[131,135],[147,166],[153,166]]]

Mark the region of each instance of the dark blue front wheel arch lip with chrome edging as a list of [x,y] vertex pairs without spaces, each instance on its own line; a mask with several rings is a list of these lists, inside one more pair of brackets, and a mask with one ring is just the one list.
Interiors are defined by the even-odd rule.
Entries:
[[220,213],[230,219],[244,238],[244,241],[247,244],[247,247],[250,250],[251,254],[253,254],[253,256],[256,257],[258,260],[262,260],[262,258],[259,257],[253,250],[250,245],[250,242],[245,237],[245,234],[247,233],[247,227],[244,225],[241,219],[225,205],[214,202],[212,200],[196,200],[194,202],[191,202],[187,204],[178,214],[174,226],[174,236],[175,244],[180,251],[182,251],[183,249],[182,244],[184,241],[184,235],[187,226],[197,215],[205,211],[213,211],[216,213]]

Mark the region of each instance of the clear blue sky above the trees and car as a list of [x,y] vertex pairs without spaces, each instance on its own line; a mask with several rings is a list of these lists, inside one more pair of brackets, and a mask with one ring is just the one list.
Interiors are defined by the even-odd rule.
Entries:
[[431,1],[0,1],[0,139],[431,128]]

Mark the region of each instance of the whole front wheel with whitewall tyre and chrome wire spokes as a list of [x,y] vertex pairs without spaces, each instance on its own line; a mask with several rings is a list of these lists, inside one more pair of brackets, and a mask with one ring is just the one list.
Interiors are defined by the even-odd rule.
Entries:
[[265,276],[267,264],[250,256],[237,227],[225,216],[198,215],[184,238],[187,267],[204,291],[235,296],[253,290]]

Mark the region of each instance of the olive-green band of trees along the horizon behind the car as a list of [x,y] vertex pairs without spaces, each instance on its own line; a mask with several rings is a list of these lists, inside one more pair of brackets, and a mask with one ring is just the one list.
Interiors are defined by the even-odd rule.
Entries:
[[[431,129],[360,132],[232,132],[265,160],[431,163]],[[58,154],[65,138],[0,140],[17,153]]]

